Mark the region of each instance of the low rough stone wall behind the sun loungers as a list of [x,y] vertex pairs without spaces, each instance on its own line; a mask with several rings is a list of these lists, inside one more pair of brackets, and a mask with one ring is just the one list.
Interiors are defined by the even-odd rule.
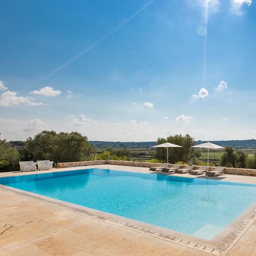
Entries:
[[[125,166],[146,167],[146,168],[161,165],[159,163],[146,163],[146,162],[130,162],[130,161],[116,161],[116,160],[95,160],[95,161],[83,161],[83,162],[58,163],[57,168],[78,167],[78,166],[88,166],[88,165],[100,165],[100,164],[125,165]],[[173,164],[169,164],[170,167],[172,165]],[[183,166],[181,166],[181,167],[183,167]],[[199,167],[199,166],[197,166],[197,167]],[[214,169],[215,169],[215,167],[209,167],[209,171],[212,171]],[[225,168],[224,173],[225,174],[235,174],[235,175],[256,176],[256,169]]]

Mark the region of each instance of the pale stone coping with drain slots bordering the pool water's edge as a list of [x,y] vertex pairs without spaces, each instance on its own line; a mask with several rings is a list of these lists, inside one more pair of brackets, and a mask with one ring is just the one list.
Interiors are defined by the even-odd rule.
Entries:
[[[151,173],[148,171],[148,169],[138,170],[137,168],[135,168],[131,170],[130,166],[128,166],[129,168],[124,168],[124,166],[115,166],[115,168],[112,168],[112,166],[107,165],[107,166],[82,166],[79,168],[77,167],[65,168],[63,170],[55,169],[55,170],[49,170],[49,171],[36,171],[36,172],[12,173],[12,174],[9,173],[9,175],[6,173],[7,175],[0,175],[0,176],[6,177],[6,176],[14,176],[14,175],[16,176],[16,175],[35,174],[35,173],[45,173],[45,172],[56,172],[56,171],[59,172],[59,171],[79,170],[79,169],[81,170],[81,169],[89,169],[92,167],[94,168],[98,167],[102,169],[111,169],[111,170],[114,169],[114,170],[122,170],[122,171]],[[186,176],[188,175],[182,175],[182,177],[186,177]],[[231,175],[231,176],[234,176],[234,175]],[[193,177],[189,175],[189,178],[195,178],[195,177],[194,175]],[[200,178],[200,176],[198,178]],[[226,178],[224,179],[226,180]],[[231,181],[235,181],[235,180],[231,180]],[[247,181],[247,180],[244,180],[244,181]],[[250,181],[249,183],[255,183],[253,181]],[[59,201],[57,199],[37,195],[34,193],[29,193],[27,191],[23,191],[20,189],[15,189],[15,188],[3,186],[3,185],[1,185],[1,188],[9,191],[13,191],[14,193],[18,193],[23,196],[28,196],[30,198],[43,201],[51,205],[63,207],[63,209],[78,212],[80,214],[84,214],[92,218],[101,219],[102,221],[106,221],[117,226],[122,226],[124,228],[132,229],[139,233],[144,233],[146,235],[150,235],[159,239],[164,239],[165,241],[170,241],[175,244],[183,245],[191,249],[199,250],[199,251],[210,253],[213,255],[226,255],[231,250],[231,248],[239,241],[239,239],[243,236],[246,230],[250,228],[250,226],[256,219],[256,210],[255,210],[256,204],[254,203],[243,214],[239,215],[239,217],[235,219],[228,227],[226,227],[225,230],[223,230],[218,236],[214,237],[211,241],[207,241],[205,239],[179,233],[177,231],[161,228],[158,226],[150,225],[140,221],[135,221],[132,219],[127,219],[124,217],[120,217],[118,215],[101,212],[101,211],[90,209],[84,206],[66,203],[63,201]]]

